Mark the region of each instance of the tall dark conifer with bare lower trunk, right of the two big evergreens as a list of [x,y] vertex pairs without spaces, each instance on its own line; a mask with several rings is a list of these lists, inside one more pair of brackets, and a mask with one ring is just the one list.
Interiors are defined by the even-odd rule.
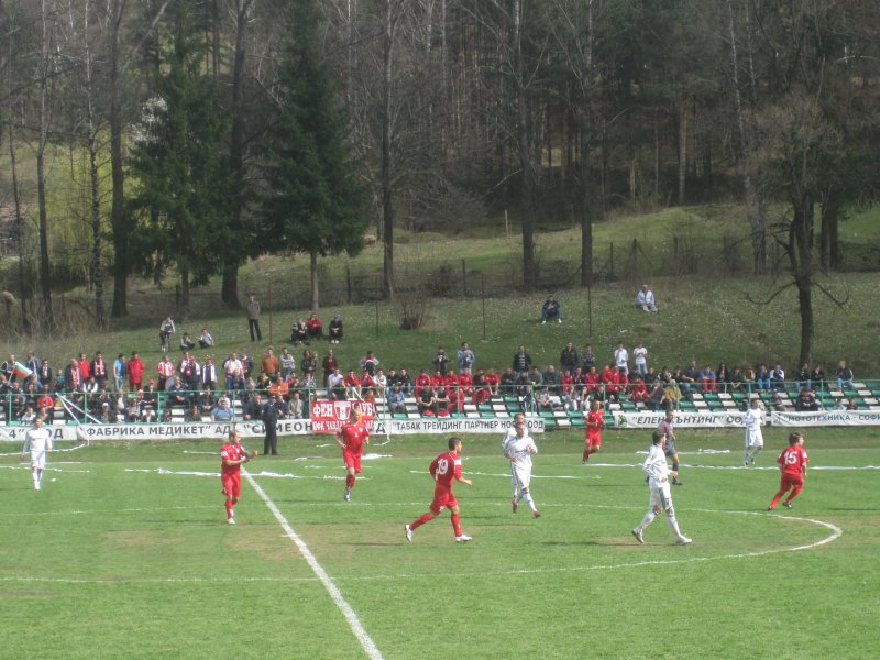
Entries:
[[309,254],[317,308],[318,256],[361,251],[366,195],[348,144],[348,119],[332,87],[334,76],[318,52],[311,3],[292,3],[288,16],[290,37],[263,142],[261,210],[272,250]]

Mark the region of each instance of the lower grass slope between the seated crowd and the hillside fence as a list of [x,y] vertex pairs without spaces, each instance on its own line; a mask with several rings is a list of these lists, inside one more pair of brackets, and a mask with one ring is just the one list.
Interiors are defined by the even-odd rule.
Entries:
[[[428,301],[427,323],[415,331],[398,329],[399,311],[387,302],[321,310],[328,321],[332,312],[342,315],[346,341],[334,346],[344,366],[353,366],[366,350],[373,350],[386,367],[410,370],[430,367],[438,344],[454,354],[462,341],[469,341],[477,366],[505,367],[518,344],[524,343],[537,364],[558,363],[568,340],[580,349],[592,343],[598,360],[612,359],[618,341],[630,350],[637,341],[648,348],[649,364],[659,369],[686,365],[693,358],[713,366],[779,361],[787,369],[795,366],[800,350],[800,318],[796,295],[788,289],[768,305],[754,299],[769,297],[770,279],[662,279],[654,290],[661,311],[648,315],[634,305],[631,284],[608,284],[587,293],[581,289],[557,292],[563,305],[564,323],[540,326],[538,315],[542,296],[515,295],[507,298],[433,299]],[[870,299],[876,290],[873,274],[850,274],[828,283],[849,302],[837,308],[816,292],[815,362],[826,371],[839,359],[848,360],[859,377],[880,376],[877,345],[880,327]],[[207,323],[218,340],[216,355],[246,349],[252,355],[263,353],[272,343],[279,348],[289,339],[293,311],[264,312],[263,342],[252,344],[242,314],[215,315],[178,322],[178,332],[197,336]],[[4,353],[23,355],[30,348],[51,358],[56,364],[79,352],[103,350],[106,355],[138,350],[147,364],[158,361],[157,328],[154,322],[105,334],[58,337],[32,345],[32,342],[4,342]],[[317,348],[323,354],[326,342]],[[297,353],[301,351],[297,350]],[[204,352],[199,352],[204,353]]]

